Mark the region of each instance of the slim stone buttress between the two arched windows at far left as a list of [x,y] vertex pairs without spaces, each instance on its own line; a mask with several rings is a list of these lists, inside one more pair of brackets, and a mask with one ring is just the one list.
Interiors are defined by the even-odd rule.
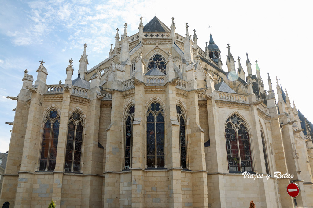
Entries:
[[62,101],[61,114],[60,114],[57,158],[56,158],[55,169],[54,169],[54,180],[53,180],[53,191],[52,191],[52,198],[54,199],[55,204],[57,206],[60,206],[60,203],[61,203],[61,191],[62,191],[63,174],[64,174],[67,128],[68,128],[68,123],[69,123],[70,97],[71,97],[70,92],[63,92],[63,101]]

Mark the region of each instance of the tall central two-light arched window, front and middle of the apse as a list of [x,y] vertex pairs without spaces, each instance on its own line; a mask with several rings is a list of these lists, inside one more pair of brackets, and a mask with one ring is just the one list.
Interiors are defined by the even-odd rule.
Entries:
[[159,103],[151,103],[147,111],[147,166],[164,164],[164,111]]

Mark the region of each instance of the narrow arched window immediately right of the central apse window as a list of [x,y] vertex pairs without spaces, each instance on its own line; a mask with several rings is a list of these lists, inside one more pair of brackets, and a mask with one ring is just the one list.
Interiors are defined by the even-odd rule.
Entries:
[[185,116],[182,111],[182,107],[176,105],[177,120],[179,123],[179,141],[180,141],[180,164],[182,168],[187,168],[187,155],[186,155],[186,124]]

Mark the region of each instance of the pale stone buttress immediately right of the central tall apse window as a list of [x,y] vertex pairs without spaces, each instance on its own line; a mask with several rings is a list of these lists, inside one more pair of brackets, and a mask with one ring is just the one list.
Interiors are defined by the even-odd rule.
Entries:
[[[167,85],[165,108],[165,164],[168,174],[169,207],[182,207],[179,123],[176,110],[176,85]],[[178,169],[178,170],[177,170]]]

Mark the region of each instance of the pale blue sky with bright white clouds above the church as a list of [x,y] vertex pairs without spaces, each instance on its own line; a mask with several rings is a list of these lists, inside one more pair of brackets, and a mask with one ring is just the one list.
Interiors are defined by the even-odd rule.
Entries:
[[[58,84],[66,78],[65,68],[73,59],[77,76],[78,60],[87,42],[87,69],[108,57],[115,43],[116,28],[120,34],[128,23],[127,34],[138,32],[139,17],[145,25],[154,16],[168,27],[174,17],[176,32],[185,34],[196,29],[198,45],[204,50],[210,32],[222,51],[223,70],[227,71],[227,43],[233,57],[240,56],[245,67],[245,53],[255,69],[258,60],[261,76],[267,86],[267,72],[276,85],[278,76],[296,107],[313,122],[312,101],[312,29],[311,1],[18,1],[3,0],[0,11],[0,152],[8,151],[16,101],[24,70],[36,80],[39,61],[48,70],[47,84]],[[211,29],[208,27],[212,26]],[[235,58],[237,60],[237,58]],[[238,67],[238,62],[235,63]]]

